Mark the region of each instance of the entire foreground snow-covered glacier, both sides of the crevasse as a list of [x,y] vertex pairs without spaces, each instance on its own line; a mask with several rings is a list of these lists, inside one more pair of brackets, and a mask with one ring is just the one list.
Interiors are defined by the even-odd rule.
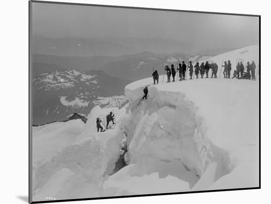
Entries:
[[[127,105],[96,106],[86,124],[34,127],[33,146],[50,145],[34,151],[34,201],[258,187],[259,81],[162,78],[127,85]],[[116,125],[97,133],[96,118],[105,123],[110,111]]]

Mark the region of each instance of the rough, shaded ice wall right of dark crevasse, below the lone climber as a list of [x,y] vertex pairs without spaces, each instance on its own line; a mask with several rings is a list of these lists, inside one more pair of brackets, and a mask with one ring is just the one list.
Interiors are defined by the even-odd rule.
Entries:
[[[140,89],[126,90],[131,104],[140,96]],[[208,128],[204,119],[197,115],[194,103],[185,100],[181,92],[149,87],[149,98],[139,106],[134,103],[128,116],[121,126],[127,134],[126,158],[129,159],[126,160],[129,165],[125,168],[130,168],[129,176],[143,177],[153,173],[158,173],[159,178],[173,176],[189,183],[189,189],[176,187],[175,190],[181,192],[206,190],[233,170],[227,151],[204,137]],[[116,174],[124,175],[124,171]],[[107,188],[111,195],[136,194],[127,189],[123,192],[121,184],[112,180],[109,178],[105,182],[105,192]]]

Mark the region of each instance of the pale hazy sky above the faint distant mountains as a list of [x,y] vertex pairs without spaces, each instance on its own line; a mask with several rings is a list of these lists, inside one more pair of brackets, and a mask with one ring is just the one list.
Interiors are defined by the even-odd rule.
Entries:
[[168,38],[206,49],[237,48],[259,43],[259,18],[34,3],[33,32],[87,39]]

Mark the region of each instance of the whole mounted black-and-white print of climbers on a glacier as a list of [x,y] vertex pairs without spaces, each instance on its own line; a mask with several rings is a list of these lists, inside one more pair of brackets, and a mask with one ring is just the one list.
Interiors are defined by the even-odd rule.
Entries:
[[29,12],[30,203],[260,188],[260,16]]

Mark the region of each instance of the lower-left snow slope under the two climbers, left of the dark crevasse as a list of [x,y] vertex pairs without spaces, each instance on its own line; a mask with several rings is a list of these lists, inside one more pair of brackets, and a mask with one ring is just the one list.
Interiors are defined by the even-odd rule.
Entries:
[[[96,118],[100,117],[104,123],[110,111],[113,109],[94,107],[88,116],[87,123],[78,127],[78,132],[75,134],[71,134],[74,126],[66,122],[65,129],[55,130],[58,130],[58,135],[54,135],[54,128],[59,123],[51,123],[46,125],[44,130],[34,131],[34,138],[40,137],[45,143],[51,143],[50,146],[44,146],[44,143],[41,144],[37,140],[33,142],[33,146],[40,151],[39,159],[43,161],[34,163],[34,201],[43,201],[45,197],[54,197],[59,200],[101,196],[104,176],[114,171],[123,141],[123,132],[119,133],[118,125],[113,127],[109,124],[106,132],[97,133]],[[114,108],[114,113],[118,123],[122,123],[126,115],[125,108],[121,110]],[[67,138],[62,135],[66,135]],[[62,141],[63,146],[54,144],[57,141]],[[55,145],[58,151],[50,152],[50,147]],[[34,154],[36,152],[37,150]],[[42,156],[44,158],[41,158]]]

